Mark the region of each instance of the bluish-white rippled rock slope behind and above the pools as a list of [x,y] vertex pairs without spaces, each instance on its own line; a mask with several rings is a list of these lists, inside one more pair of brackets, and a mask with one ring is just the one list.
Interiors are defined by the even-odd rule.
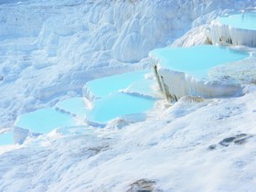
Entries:
[[[226,9],[254,4],[252,0],[1,1],[0,74],[5,79],[0,86],[0,128],[11,127],[22,112],[80,96],[87,80],[142,69],[149,63],[144,59],[149,50],[172,43]],[[195,35],[194,43],[185,44],[195,44],[199,39]],[[203,33],[200,37],[203,42]]]

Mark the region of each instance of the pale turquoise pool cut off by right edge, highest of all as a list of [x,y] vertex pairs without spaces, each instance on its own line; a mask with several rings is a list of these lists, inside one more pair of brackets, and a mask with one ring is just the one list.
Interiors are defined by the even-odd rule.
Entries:
[[256,13],[219,16],[219,22],[230,27],[256,30]]

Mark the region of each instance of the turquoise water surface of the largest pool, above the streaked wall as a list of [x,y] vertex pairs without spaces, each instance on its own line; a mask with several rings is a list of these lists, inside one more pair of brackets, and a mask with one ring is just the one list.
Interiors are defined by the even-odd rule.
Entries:
[[160,59],[161,67],[187,72],[198,77],[206,77],[208,69],[245,59],[249,53],[230,48],[203,45],[190,48],[157,48],[150,56]]

